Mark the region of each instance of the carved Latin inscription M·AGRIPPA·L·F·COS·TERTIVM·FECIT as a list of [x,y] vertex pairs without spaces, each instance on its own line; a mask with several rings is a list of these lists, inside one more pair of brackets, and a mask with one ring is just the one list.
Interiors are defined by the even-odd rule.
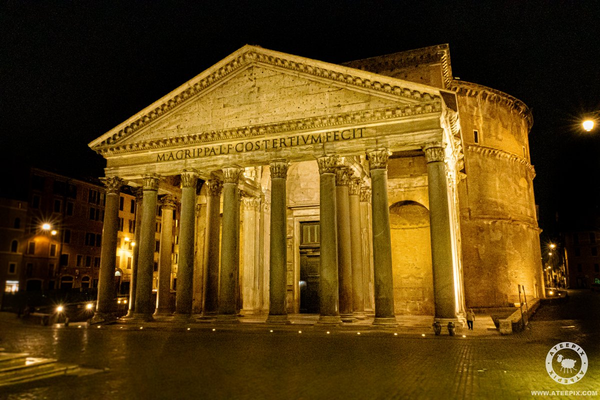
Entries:
[[186,158],[210,157],[247,153],[252,151],[269,151],[296,146],[316,145],[318,143],[340,142],[342,140],[360,139],[365,128],[353,128],[343,131],[331,131],[321,134],[306,134],[277,139],[248,140],[246,142],[228,143],[227,145],[197,147],[192,149],[170,151],[157,154],[156,161],[184,160]]

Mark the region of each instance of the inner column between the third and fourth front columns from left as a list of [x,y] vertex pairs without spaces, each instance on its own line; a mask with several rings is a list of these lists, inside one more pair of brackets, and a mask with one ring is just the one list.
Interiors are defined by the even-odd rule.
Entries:
[[206,181],[206,236],[204,254],[206,274],[204,278],[204,306],[202,315],[217,315],[219,293],[219,232],[221,227],[221,189],[223,184],[216,178]]

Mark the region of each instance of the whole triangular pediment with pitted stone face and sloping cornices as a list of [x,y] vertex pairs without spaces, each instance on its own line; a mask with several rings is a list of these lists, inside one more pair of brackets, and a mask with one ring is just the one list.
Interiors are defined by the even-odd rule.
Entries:
[[437,100],[439,91],[430,86],[244,46],[89,146],[98,150],[302,121],[310,124],[314,119]]

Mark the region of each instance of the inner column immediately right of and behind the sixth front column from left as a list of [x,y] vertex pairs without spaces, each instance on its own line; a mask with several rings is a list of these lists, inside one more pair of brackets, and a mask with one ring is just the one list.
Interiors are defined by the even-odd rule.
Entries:
[[335,207],[337,221],[338,290],[342,322],[355,320],[352,313],[352,248],[350,247],[350,172],[348,167],[335,169]]

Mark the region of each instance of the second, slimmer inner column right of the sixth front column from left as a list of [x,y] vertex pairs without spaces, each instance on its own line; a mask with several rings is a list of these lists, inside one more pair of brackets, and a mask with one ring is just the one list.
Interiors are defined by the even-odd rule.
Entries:
[[352,251],[352,310],[356,318],[365,318],[364,272],[361,243],[361,179],[350,178],[350,248]]

